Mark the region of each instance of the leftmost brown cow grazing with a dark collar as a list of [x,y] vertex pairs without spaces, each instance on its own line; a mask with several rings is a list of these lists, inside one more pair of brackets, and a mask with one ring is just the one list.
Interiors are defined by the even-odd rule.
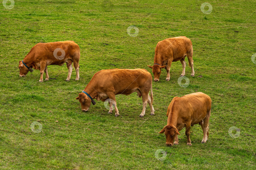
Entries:
[[66,63],[69,73],[66,81],[70,81],[72,73],[72,62],[76,69],[76,80],[79,80],[79,59],[80,48],[74,41],[59,41],[53,43],[38,43],[27,56],[19,61],[20,76],[24,77],[27,72],[33,69],[40,70],[40,80],[43,82],[43,74],[46,73],[46,79],[49,80],[48,65],[63,65]]

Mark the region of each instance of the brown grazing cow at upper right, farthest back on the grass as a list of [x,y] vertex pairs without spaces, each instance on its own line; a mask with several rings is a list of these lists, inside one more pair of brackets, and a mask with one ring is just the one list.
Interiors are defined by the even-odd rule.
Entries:
[[182,74],[185,75],[186,62],[185,57],[187,56],[189,66],[192,68],[191,76],[195,76],[194,65],[193,65],[193,47],[192,42],[185,36],[167,38],[163,41],[159,41],[155,48],[154,65],[149,66],[152,68],[154,74],[154,81],[159,81],[161,75],[161,69],[165,68],[167,71],[166,81],[170,80],[170,67],[172,62],[179,61],[182,64]]

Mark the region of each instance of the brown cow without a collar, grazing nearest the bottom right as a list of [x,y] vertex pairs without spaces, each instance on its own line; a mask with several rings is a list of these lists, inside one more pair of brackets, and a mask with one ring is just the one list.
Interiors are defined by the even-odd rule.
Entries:
[[201,143],[206,143],[209,136],[209,119],[211,113],[211,98],[201,92],[174,97],[167,110],[167,125],[159,132],[166,136],[166,145],[179,144],[179,131],[186,127],[187,145],[192,145],[189,138],[190,127],[201,125],[204,137]]

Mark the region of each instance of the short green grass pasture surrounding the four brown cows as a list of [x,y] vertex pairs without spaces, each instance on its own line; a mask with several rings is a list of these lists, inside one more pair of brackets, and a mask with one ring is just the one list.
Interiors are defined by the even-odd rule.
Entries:
[[[5,0],[6,1],[6,0]],[[256,3],[206,1],[15,0],[0,4],[0,169],[255,169]],[[12,8],[13,7],[13,8]],[[129,36],[127,28],[135,25]],[[75,99],[102,69],[153,65],[155,46],[169,37],[192,40],[195,77],[186,58],[188,87],[178,84],[180,62],[170,81],[162,70],[152,82],[155,116],[137,93],[117,95],[119,117],[96,101],[82,112]],[[48,66],[49,81],[38,70],[19,76],[18,64],[36,43],[73,40],[81,50],[80,80],[65,65]],[[106,45],[107,44],[107,45]],[[45,79],[45,74],[44,74]],[[184,81],[182,82],[184,83]],[[158,132],[167,124],[173,97],[203,92],[212,99],[209,140],[201,144],[199,125],[185,128],[180,144],[168,147]],[[33,122],[35,133],[31,130]],[[236,127],[240,130],[229,128]],[[237,133],[237,134],[236,134]],[[236,136],[231,137],[236,134]],[[163,150],[157,159],[157,150]]]

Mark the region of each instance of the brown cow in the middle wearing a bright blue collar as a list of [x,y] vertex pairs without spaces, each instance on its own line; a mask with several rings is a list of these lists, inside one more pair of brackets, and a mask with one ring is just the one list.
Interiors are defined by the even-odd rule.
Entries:
[[[149,96],[149,91],[151,94]],[[101,70],[94,74],[86,88],[76,98],[82,106],[82,111],[88,111],[91,102],[95,104],[93,99],[98,101],[108,101],[112,113],[115,107],[115,116],[119,116],[119,111],[116,105],[115,95],[137,92],[139,97],[142,96],[143,110],[140,117],[145,115],[147,103],[151,109],[151,115],[154,115],[153,107],[153,91],[152,91],[152,76],[145,69],[110,69]]]

